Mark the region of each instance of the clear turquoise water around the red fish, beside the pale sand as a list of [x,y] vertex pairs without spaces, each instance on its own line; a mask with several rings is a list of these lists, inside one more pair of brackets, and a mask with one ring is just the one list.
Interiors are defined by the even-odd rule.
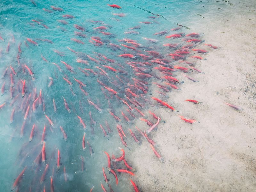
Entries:
[[[123,9],[111,8],[107,4],[118,4]],[[51,5],[60,7],[63,11],[55,11],[51,8]],[[133,98],[131,93],[127,92],[127,88],[130,88],[132,92],[138,96],[134,97],[142,107],[137,107],[143,113],[146,114],[146,118],[154,124],[156,119],[148,113],[149,108],[158,108],[161,105],[152,100],[152,94],[156,95],[156,92],[150,88],[152,82],[157,82],[164,85],[164,80],[161,76],[164,76],[154,69],[159,67],[160,64],[153,63],[151,60],[162,59],[165,62],[164,67],[173,68],[175,65],[182,67],[188,67],[188,64],[181,61],[189,61],[194,67],[196,67],[197,60],[192,59],[192,56],[204,57],[202,53],[196,53],[190,50],[189,54],[184,57],[177,57],[172,59],[168,54],[173,53],[182,46],[193,44],[193,49],[197,49],[198,45],[203,45],[203,35],[195,37],[202,40],[201,43],[187,43],[186,40],[193,39],[186,37],[186,34],[196,32],[200,34],[200,31],[193,31],[193,25],[200,20],[204,19],[205,15],[215,15],[220,12],[221,9],[225,9],[229,6],[233,6],[229,1],[1,1],[0,3],[0,36],[4,40],[0,40],[1,53],[1,65],[0,71],[4,74],[5,69],[8,67],[6,75],[0,80],[1,87],[5,82],[5,91],[0,98],[0,105],[6,102],[5,106],[0,109],[0,191],[10,191],[12,185],[20,174],[20,172],[27,166],[23,178],[18,185],[19,191],[43,191],[45,186],[46,191],[51,189],[50,176],[53,177],[53,185],[55,191],[90,191],[94,186],[93,191],[101,191],[100,182],[108,190],[107,184],[104,181],[102,174],[102,167],[107,167],[107,157],[104,151],[107,151],[110,156],[114,154],[116,157],[121,156],[120,149],[124,148],[125,151],[133,150],[139,147],[132,139],[128,128],[131,128],[139,140],[142,140],[140,133],[135,129],[135,120],[140,118],[140,114],[133,109],[132,114],[135,118],[129,115],[127,112],[127,105],[125,105],[120,99],[111,92],[108,92],[104,86],[97,82],[97,79],[101,81],[106,87],[110,87],[117,91],[117,96],[129,103],[134,108],[135,105],[129,102],[125,95],[129,95]],[[219,9],[218,9],[219,8]],[[43,9],[49,10],[49,12]],[[125,17],[119,17],[114,13],[124,13]],[[62,15],[73,15],[74,18],[63,18]],[[32,21],[36,20],[38,22]],[[65,20],[68,24],[64,25],[58,20]],[[101,21],[101,22],[93,22]],[[151,24],[144,24],[140,22],[150,22]],[[78,30],[74,25],[79,25],[84,30]],[[45,25],[45,26],[43,26]],[[47,26],[47,27],[46,27]],[[104,26],[106,30],[97,30],[96,27]],[[140,26],[138,29],[131,30],[134,26]],[[180,28],[177,31],[172,31],[172,28]],[[79,32],[86,37],[77,36],[74,32]],[[104,35],[101,32],[108,32],[111,35]],[[124,32],[135,32],[135,34],[127,34]],[[163,36],[153,35],[160,31],[167,31]],[[180,38],[165,38],[166,35],[181,33]],[[100,37],[100,44],[92,44],[89,40],[91,37]],[[157,40],[156,43],[152,43],[143,37]],[[38,46],[28,42],[27,38],[35,41]],[[76,43],[70,39],[76,38],[82,41],[84,44]],[[118,40],[128,38],[136,40],[138,47],[133,44],[120,42]],[[187,39],[186,39],[187,38]],[[49,41],[42,41],[45,39]],[[94,40],[91,40],[94,41]],[[25,43],[26,42],[26,43]],[[8,50],[8,43],[10,44]],[[18,46],[21,43],[20,49],[22,53],[18,53]],[[120,48],[111,46],[117,44]],[[163,44],[172,43],[177,44],[177,47],[168,48]],[[206,42],[209,43],[210,42]],[[26,45],[28,44],[28,46]],[[124,48],[120,44],[126,44],[133,46],[136,50]],[[76,53],[68,50],[69,47],[75,50]],[[202,47],[202,46],[201,46]],[[208,51],[211,48],[204,46]],[[59,54],[54,52],[58,50]],[[160,53],[160,56],[150,55],[146,51],[156,51]],[[186,51],[186,50],[183,50]],[[118,55],[128,53],[133,54],[135,58],[122,58]],[[145,54],[148,58],[143,59],[139,54]],[[87,55],[96,59],[98,62],[90,60]],[[106,60],[103,56],[106,56]],[[19,56],[19,62],[17,60]],[[47,60],[44,61],[42,58]],[[76,62],[77,58],[86,60],[87,64]],[[168,63],[167,61],[168,60]],[[72,66],[73,71],[67,70],[65,65],[60,61],[66,62]],[[134,67],[126,62],[148,62],[145,65],[141,63],[134,64]],[[61,70],[59,70],[54,64],[57,63]],[[24,67],[24,64],[28,66],[34,74],[31,77],[28,70]],[[17,73],[14,75],[11,72],[10,65]],[[107,65],[117,69],[117,73],[108,70],[108,68],[102,65]],[[99,68],[104,69],[107,75],[104,75]],[[88,68],[94,71],[94,74],[88,70],[81,72],[79,68]],[[168,70],[165,70],[168,71]],[[189,69],[189,72],[191,69]],[[172,71],[171,71],[172,72]],[[189,76],[189,72],[185,75]],[[10,73],[13,75],[14,87],[13,98],[10,98]],[[139,75],[138,73],[145,73],[150,75],[150,78],[145,78],[145,75]],[[173,76],[178,73],[182,73],[181,70],[172,72]],[[2,75],[1,74],[1,75]],[[137,75],[136,75],[137,74]],[[165,74],[166,75],[166,74]],[[48,87],[51,77],[53,84]],[[68,83],[63,80],[63,77],[67,78],[71,83],[72,93]],[[88,95],[84,94],[79,87],[79,84],[74,78],[82,81],[86,84],[86,87],[82,87]],[[133,78],[139,79],[140,87],[143,87],[145,92],[131,84],[135,84]],[[185,78],[185,77],[184,77]],[[22,98],[22,84],[20,79],[26,80],[25,96]],[[120,81],[121,79],[121,81]],[[162,79],[162,80],[161,80]],[[142,82],[147,82],[149,85],[145,85]],[[165,81],[167,82],[167,81]],[[182,82],[182,79],[180,79]],[[170,82],[169,82],[170,83]],[[171,82],[180,87],[177,82]],[[143,85],[142,85],[143,84]],[[166,86],[166,85],[164,85]],[[43,104],[39,106],[37,103],[36,111],[33,112],[32,105],[34,102],[33,95],[36,88],[36,97],[39,95],[40,89],[42,90]],[[104,90],[104,94],[102,92]],[[171,88],[168,90],[171,92]],[[164,92],[163,90],[157,90]],[[166,93],[166,92],[165,92]],[[31,94],[30,100],[28,96]],[[63,97],[68,103],[71,113],[68,113],[64,106]],[[157,93],[157,98],[166,100],[164,96]],[[55,100],[57,112],[54,112],[53,99]],[[87,99],[94,102],[99,108],[102,109],[99,112],[96,108],[90,105]],[[25,100],[25,102],[23,101]],[[40,100],[40,99],[39,99]],[[14,103],[13,103],[14,102]],[[22,103],[23,102],[23,103]],[[26,104],[27,102],[27,104]],[[25,104],[24,104],[25,103]],[[28,118],[24,121],[24,115],[26,108],[30,104],[30,110]],[[25,107],[23,107],[25,105]],[[45,106],[45,109],[44,109]],[[162,106],[163,107],[163,106]],[[10,123],[10,116],[13,108],[15,113],[13,122]],[[22,109],[21,109],[22,108]],[[23,109],[25,108],[25,109]],[[92,118],[96,124],[91,125],[89,112],[92,113]],[[115,113],[121,120],[118,124],[123,126],[124,132],[127,138],[124,138],[128,147],[122,145],[120,137],[116,131],[116,121],[109,114],[108,111]],[[130,122],[126,122],[122,116],[122,111],[130,119]],[[51,126],[44,113],[49,116],[54,124]],[[85,144],[86,149],[83,151],[82,140],[84,136],[83,126],[79,123],[77,116],[80,116],[86,124],[86,136],[85,143],[88,141],[94,153],[90,155],[89,146]],[[144,117],[143,117],[144,118]],[[105,121],[112,132],[108,132]],[[21,134],[22,124],[25,122],[24,134]],[[29,136],[31,128],[35,124],[34,136],[31,142],[29,142]],[[46,163],[33,163],[41,153],[42,145],[41,138],[46,126],[45,135],[45,152]],[[104,127],[107,136],[104,137],[104,133],[100,128],[100,124]],[[68,139],[65,142],[63,135],[60,131],[60,126],[65,130]],[[148,129],[140,127],[141,130]],[[60,170],[57,170],[57,149],[60,150]],[[131,153],[132,154],[132,153]],[[129,156],[127,159],[135,159],[138,157]],[[81,161],[84,159],[84,170],[81,169]],[[128,161],[128,160],[127,160]],[[39,184],[40,178],[44,172],[46,164],[49,164],[48,172],[46,173],[45,180],[42,184]],[[63,167],[65,166],[67,172],[67,181],[65,181]],[[126,169],[124,163],[118,164],[118,168]],[[118,174],[119,183],[115,185],[115,178],[113,175],[108,174],[108,170],[105,168],[109,183],[114,191],[132,191],[133,187],[130,183],[130,179],[134,180],[132,176],[122,173]],[[136,173],[135,173],[136,174]],[[136,183],[139,187],[140,183]],[[16,188],[16,189],[17,189]],[[15,189],[15,190],[16,190]],[[139,187],[141,191],[141,189]]]

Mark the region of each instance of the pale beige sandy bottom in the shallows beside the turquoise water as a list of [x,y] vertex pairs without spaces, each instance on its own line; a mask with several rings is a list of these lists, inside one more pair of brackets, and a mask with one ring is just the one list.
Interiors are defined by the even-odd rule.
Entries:
[[[179,112],[152,108],[165,121],[149,134],[164,161],[156,158],[146,140],[127,151],[141,191],[256,191],[255,5],[239,6],[230,6],[216,18],[206,15],[192,28],[191,32],[204,32],[205,43],[220,48],[202,44],[210,52],[203,55],[206,60],[197,61],[196,68],[204,74],[188,74],[199,82],[178,76],[184,81],[181,89],[162,97]],[[200,123],[185,123],[177,114]],[[141,122],[137,125],[147,128]]]

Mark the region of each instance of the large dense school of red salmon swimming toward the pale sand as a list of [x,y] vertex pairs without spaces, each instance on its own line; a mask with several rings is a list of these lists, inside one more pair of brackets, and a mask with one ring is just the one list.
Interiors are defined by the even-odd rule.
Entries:
[[[34,1],[31,2],[36,5]],[[106,9],[120,22],[127,17],[125,7],[120,5],[106,4]],[[120,139],[116,143],[116,151],[120,150],[120,153],[112,154],[112,150],[97,151],[102,154],[102,159],[97,159],[104,165],[102,178],[98,178],[98,182],[90,186],[90,192],[94,191],[95,186],[102,188],[104,192],[113,192],[110,183],[118,188],[120,182],[127,181],[130,182],[129,190],[142,191],[140,183],[134,182],[136,167],[132,167],[131,162],[127,161],[125,151],[131,149],[131,142],[137,145],[142,141],[148,142],[148,148],[152,149],[151,155],[159,159],[159,164],[165,161],[164,154],[154,142],[157,126],[164,121],[161,114],[156,114],[153,110],[165,108],[173,115],[178,115],[181,124],[198,123],[196,119],[182,116],[175,100],[167,102],[167,94],[182,89],[181,84],[185,78],[191,83],[198,82],[193,78],[193,73],[203,73],[203,66],[198,67],[197,63],[204,60],[208,52],[219,47],[205,44],[202,34],[185,33],[186,29],[181,25],[166,31],[157,31],[156,28],[155,34],[145,37],[141,34],[141,29],[147,30],[150,25],[157,25],[157,14],[145,17],[137,26],[130,26],[124,34],[115,34],[111,30],[112,26],[102,21],[86,21],[89,26],[93,26],[90,28],[76,23],[76,15],[68,14],[61,7],[45,7],[42,12],[54,12],[62,17],[55,21],[60,33],[65,34],[67,29],[74,31],[74,35],[68,37],[70,46],[66,47],[66,52],[73,54],[73,62],[67,61],[65,52],[58,51],[58,46],[54,46],[58,42],[51,39],[42,39],[39,35],[38,38],[24,37],[22,41],[16,42],[15,36],[0,34],[1,46],[6,47],[0,51],[1,58],[6,57],[10,50],[17,53],[12,56],[14,59],[11,63],[3,63],[1,66],[4,70],[0,81],[0,114],[7,113],[10,116],[13,132],[10,142],[15,142],[15,138],[21,138],[24,142],[17,154],[19,166],[17,175],[13,175],[14,182],[10,190],[53,192],[57,185],[61,185],[60,182],[69,182],[69,158],[62,160],[62,157],[69,155],[65,149],[65,143],[68,142],[80,146],[79,153],[76,154],[80,159],[80,166],[72,166],[83,174],[89,166],[85,159],[93,158],[96,153],[94,145],[97,143],[92,142],[88,135],[96,134],[100,138],[106,138],[106,146],[113,142],[111,138],[114,135],[118,136]],[[31,28],[38,28],[44,34],[50,27],[46,22],[34,19],[31,20]],[[127,34],[131,38],[127,38]],[[88,45],[108,51],[105,54],[99,53],[100,51],[88,54]],[[40,55],[45,63],[42,68],[51,67],[55,72],[55,75],[52,73],[45,80],[46,85],[41,87],[38,84],[36,86],[40,74],[33,71],[36,60],[26,62],[26,50],[39,47],[52,49],[56,58],[53,61],[48,55]],[[177,74],[182,74],[183,79],[178,79]],[[91,82],[97,82],[99,86],[91,86]],[[46,86],[47,90],[43,89]],[[54,86],[65,87],[68,91],[61,92],[61,97],[55,97],[51,95]],[[153,92],[158,96],[153,97]],[[103,95],[104,100],[99,100],[97,95]],[[70,100],[70,97],[73,99]],[[184,102],[200,105],[201,102],[195,99],[188,98]],[[233,104],[225,104],[241,110]],[[64,119],[63,114],[66,114]],[[95,121],[96,116],[102,116],[101,120]],[[136,126],[137,120],[142,121],[144,126]],[[76,122],[76,126],[67,127],[63,121]],[[12,126],[13,124],[17,126]],[[73,130],[76,130],[79,137],[71,141],[68,136],[73,134]],[[48,138],[55,137],[62,137],[62,143],[56,146],[48,144]],[[24,180],[29,178],[26,175],[31,174],[31,181],[26,182],[31,185],[23,185]],[[61,181],[58,180],[60,175],[64,178]]]

